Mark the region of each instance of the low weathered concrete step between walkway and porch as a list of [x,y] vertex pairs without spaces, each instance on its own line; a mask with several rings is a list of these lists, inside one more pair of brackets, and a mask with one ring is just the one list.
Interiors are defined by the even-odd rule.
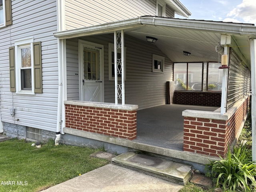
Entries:
[[182,185],[192,175],[189,165],[134,152],[120,154],[111,163]]

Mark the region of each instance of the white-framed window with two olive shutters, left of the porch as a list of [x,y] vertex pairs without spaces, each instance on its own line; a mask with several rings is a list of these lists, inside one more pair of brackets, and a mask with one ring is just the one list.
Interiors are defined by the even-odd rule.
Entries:
[[17,94],[42,93],[41,42],[33,38],[14,42],[9,47],[10,91]]

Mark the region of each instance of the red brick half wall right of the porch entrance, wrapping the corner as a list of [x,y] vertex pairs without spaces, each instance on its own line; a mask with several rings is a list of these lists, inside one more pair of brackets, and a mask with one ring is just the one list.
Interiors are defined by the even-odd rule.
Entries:
[[225,157],[228,146],[235,144],[240,135],[248,113],[249,102],[250,97],[238,108],[234,108],[235,112],[227,120],[184,115],[183,150]]

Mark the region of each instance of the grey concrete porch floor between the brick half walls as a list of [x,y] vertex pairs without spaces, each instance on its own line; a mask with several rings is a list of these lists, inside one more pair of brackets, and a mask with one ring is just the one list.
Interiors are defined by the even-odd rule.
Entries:
[[134,142],[183,150],[184,110],[214,111],[219,107],[170,104],[137,111],[137,138]]

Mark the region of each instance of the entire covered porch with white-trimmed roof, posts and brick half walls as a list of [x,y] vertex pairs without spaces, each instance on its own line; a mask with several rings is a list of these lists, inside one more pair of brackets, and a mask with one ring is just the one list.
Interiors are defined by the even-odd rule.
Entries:
[[[243,35],[240,33],[241,27],[244,28]],[[247,115],[250,93],[248,38],[253,33],[250,27],[249,24],[241,26],[146,16],[54,34],[64,50],[63,57],[60,57],[60,71],[64,74],[60,79],[60,90],[63,90],[59,102],[62,113],[59,114],[62,123],[60,130],[63,134],[162,155],[183,150],[195,156],[225,156],[228,145],[240,134]],[[116,32],[121,38],[121,50],[111,45],[113,42],[116,45]],[[158,42],[148,44],[146,35],[158,38]],[[229,41],[223,37],[229,38]],[[220,42],[225,54],[230,56],[227,64],[233,66],[232,73],[228,68],[223,69],[222,89],[218,91],[218,95],[221,93],[220,110],[203,106],[183,108],[181,105],[164,105],[167,100],[166,81],[178,81],[174,79],[174,64],[186,63],[188,69],[188,63],[200,62],[202,71],[207,71],[208,62],[220,64],[221,54],[215,50]],[[229,51],[230,47],[232,50]],[[81,69],[84,60],[80,56],[85,48],[88,48],[88,52],[99,53],[102,60],[101,79],[92,79],[100,85],[98,87],[102,92],[94,98],[90,97],[91,101],[84,96],[91,91],[88,88],[84,92],[84,84],[92,82],[84,80],[85,72]],[[112,50],[114,62],[111,59]],[[192,54],[186,56],[184,50]],[[116,62],[119,53],[122,55],[121,64]],[[154,61],[157,61],[155,66]],[[111,68],[111,62],[115,68]],[[119,74],[116,73],[117,69]],[[188,70],[185,73],[191,76]],[[216,92],[207,90],[207,75],[208,72],[202,73],[200,90],[192,94],[188,87],[193,88],[198,84],[187,83],[186,91],[180,91],[180,97],[186,94],[186,97],[193,97],[194,101],[203,104],[204,98],[200,100],[199,97],[207,93],[208,104],[216,100],[212,97]],[[186,99],[183,97],[182,100]],[[159,109],[156,109],[157,106]],[[168,107],[175,108],[174,114]],[[157,110],[164,114],[158,112],[156,115]],[[165,122],[164,116],[171,121]],[[208,135],[204,136],[204,133]],[[175,152],[176,157],[178,152]]]

